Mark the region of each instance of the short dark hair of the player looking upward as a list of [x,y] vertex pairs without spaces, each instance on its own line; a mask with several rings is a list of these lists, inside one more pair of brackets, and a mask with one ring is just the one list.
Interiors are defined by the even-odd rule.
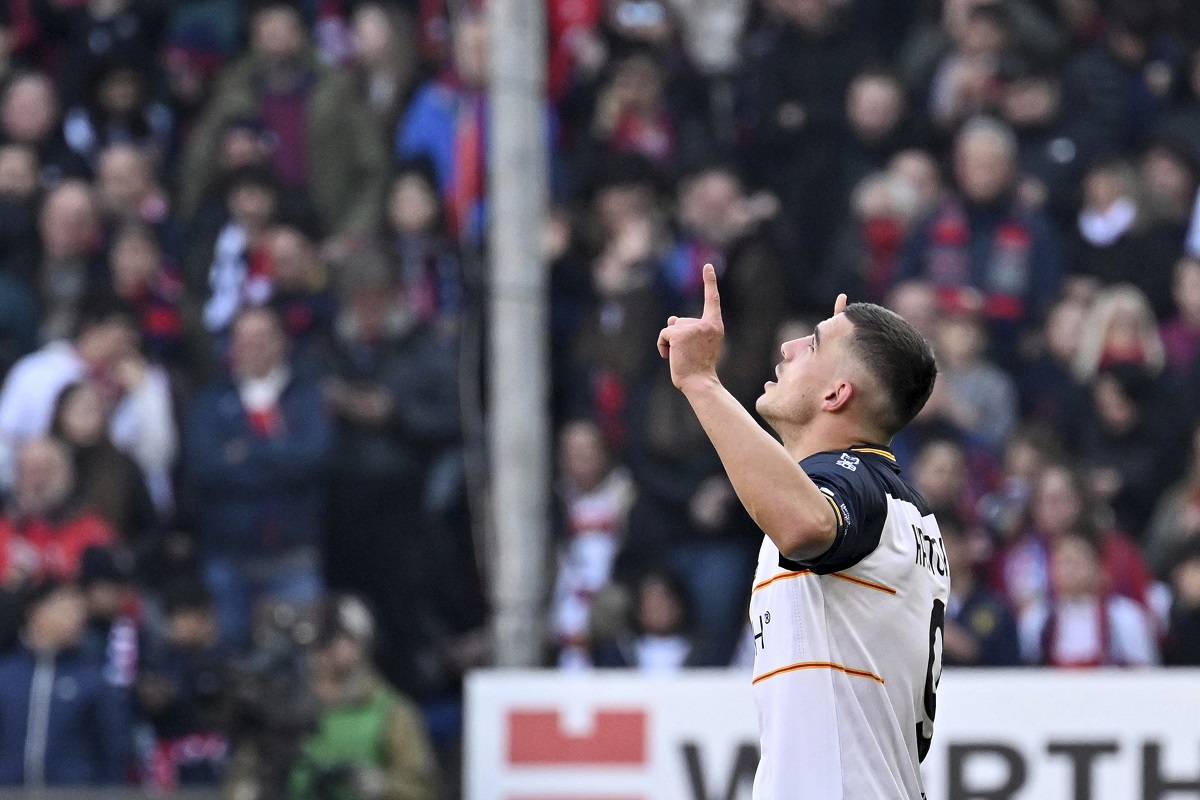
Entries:
[[937,378],[934,348],[895,312],[869,302],[846,306],[854,325],[851,348],[888,393],[888,419],[881,427],[890,437],[908,425],[925,405]]

